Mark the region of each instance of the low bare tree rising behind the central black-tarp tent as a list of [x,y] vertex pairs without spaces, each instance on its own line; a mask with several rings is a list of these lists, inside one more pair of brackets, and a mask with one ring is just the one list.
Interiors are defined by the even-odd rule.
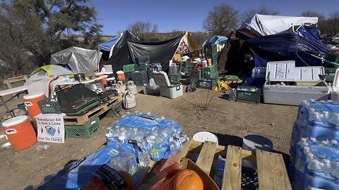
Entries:
[[152,25],[149,22],[137,21],[136,23],[130,24],[127,27],[127,30],[141,38],[145,38],[151,33],[159,32],[159,27],[157,25]]

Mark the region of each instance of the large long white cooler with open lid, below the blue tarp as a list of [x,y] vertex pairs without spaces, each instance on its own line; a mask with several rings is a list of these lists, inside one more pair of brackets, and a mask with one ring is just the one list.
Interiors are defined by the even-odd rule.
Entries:
[[[295,61],[268,62],[263,102],[298,106],[303,100],[326,101],[331,87],[319,75],[325,75],[323,67],[295,67]],[[284,86],[280,82],[296,84]]]

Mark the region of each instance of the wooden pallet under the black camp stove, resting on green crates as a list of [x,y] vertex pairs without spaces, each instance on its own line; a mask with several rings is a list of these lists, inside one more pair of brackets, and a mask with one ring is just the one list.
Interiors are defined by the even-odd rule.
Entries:
[[106,113],[110,108],[113,108],[117,103],[122,101],[122,96],[115,96],[113,99],[109,99],[105,103],[102,103],[100,106],[93,108],[88,113],[84,115],[67,115],[64,116],[64,124],[65,125],[84,125],[85,122],[89,120],[93,120],[103,113]]

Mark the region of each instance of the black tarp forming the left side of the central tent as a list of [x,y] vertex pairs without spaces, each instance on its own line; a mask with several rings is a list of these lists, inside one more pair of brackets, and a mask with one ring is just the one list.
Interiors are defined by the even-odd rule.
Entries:
[[129,54],[129,45],[127,42],[137,42],[138,40],[139,38],[136,35],[125,30],[118,42],[114,45],[112,56],[109,57],[106,65],[112,65],[112,69],[117,71],[122,70],[123,65],[133,63]]

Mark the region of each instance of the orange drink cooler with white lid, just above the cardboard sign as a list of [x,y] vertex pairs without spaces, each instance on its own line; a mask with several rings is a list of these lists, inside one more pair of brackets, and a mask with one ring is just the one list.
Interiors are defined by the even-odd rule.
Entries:
[[23,96],[23,99],[25,99],[25,106],[26,109],[28,110],[28,113],[30,114],[30,117],[32,117],[32,120],[35,121],[34,116],[39,115],[41,113],[41,110],[37,102],[46,99],[46,96],[44,96],[43,92],[36,92]]

